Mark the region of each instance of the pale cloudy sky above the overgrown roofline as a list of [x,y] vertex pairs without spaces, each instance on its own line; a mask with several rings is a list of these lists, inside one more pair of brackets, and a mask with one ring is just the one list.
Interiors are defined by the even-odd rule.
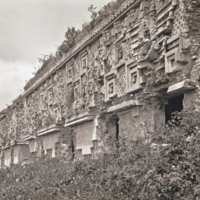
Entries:
[[88,7],[111,0],[0,0],[0,111],[23,93],[38,57],[56,51],[68,27],[90,21]]

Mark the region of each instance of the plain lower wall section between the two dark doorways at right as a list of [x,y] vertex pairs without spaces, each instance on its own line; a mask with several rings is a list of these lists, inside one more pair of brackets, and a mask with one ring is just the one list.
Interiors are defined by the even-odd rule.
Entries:
[[[112,109],[114,108],[115,106],[112,107]],[[105,125],[113,136],[116,134],[116,118],[119,119],[119,134],[135,140],[145,137],[146,132],[164,128],[165,105],[159,101],[152,103],[149,101],[147,105],[133,105],[133,107],[124,108],[121,111],[116,110],[112,116],[108,116],[108,119],[111,120]]]

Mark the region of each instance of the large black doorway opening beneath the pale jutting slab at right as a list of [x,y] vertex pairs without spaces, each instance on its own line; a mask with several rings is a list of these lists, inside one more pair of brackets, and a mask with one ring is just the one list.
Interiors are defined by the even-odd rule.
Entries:
[[183,110],[184,95],[173,97],[169,99],[168,104],[165,106],[165,123],[172,119],[173,112],[181,112]]

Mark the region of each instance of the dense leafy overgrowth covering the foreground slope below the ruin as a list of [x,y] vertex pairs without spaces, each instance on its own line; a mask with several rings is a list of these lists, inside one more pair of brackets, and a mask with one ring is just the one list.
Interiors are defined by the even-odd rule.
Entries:
[[198,199],[199,117],[175,113],[165,130],[137,141],[108,137],[93,158],[40,158],[1,169],[0,199]]

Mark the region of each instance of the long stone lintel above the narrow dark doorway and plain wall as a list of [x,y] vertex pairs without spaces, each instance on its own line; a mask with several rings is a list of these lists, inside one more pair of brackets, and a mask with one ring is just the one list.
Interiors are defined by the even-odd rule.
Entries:
[[138,100],[124,101],[123,103],[108,108],[107,113],[122,111],[135,106],[142,106],[142,104],[140,104]]

